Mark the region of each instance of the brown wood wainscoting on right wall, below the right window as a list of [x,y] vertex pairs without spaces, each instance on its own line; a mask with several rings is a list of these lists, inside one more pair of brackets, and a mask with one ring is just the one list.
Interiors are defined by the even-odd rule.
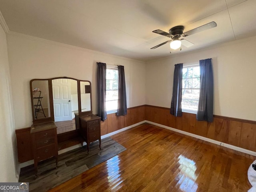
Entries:
[[[146,120],[256,151],[256,121],[214,115],[213,122],[197,121],[196,114],[170,114],[170,108],[145,106]],[[166,118],[166,120],[164,120]]]

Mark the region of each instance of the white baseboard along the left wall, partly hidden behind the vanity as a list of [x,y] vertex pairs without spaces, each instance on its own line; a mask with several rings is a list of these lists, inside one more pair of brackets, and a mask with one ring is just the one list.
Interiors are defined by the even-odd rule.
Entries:
[[[141,121],[141,122],[138,122],[138,123],[133,124],[133,125],[130,125],[130,126],[128,126],[128,127],[122,128],[122,129],[120,129],[120,130],[117,130],[117,131],[108,133],[108,134],[106,134],[106,135],[102,135],[102,136],[101,136],[101,139],[104,139],[104,138],[109,137],[109,136],[112,136],[112,135],[114,135],[114,134],[123,132],[123,131],[125,131],[125,130],[128,130],[128,129],[130,129],[130,128],[136,127],[136,126],[138,126],[138,125],[140,125],[140,124],[143,124],[143,123],[146,123],[146,120]],[[83,146],[84,146],[84,145],[86,145],[86,142],[83,143]],[[69,148],[65,148],[65,149],[59,150],[59,151],[58,151],[58,154],[60,155],[60,154],[62,154],[62,153],[68,152],[68,151],[70,151],[70,150],[73,150],[73,149],[76,149],[76,148],[79,148],[79,147],[81,147],[81,144],[77,144],[77,145],[71,146],[71,147],[69,147]],[[23,167],[26,167],[26,166],[29,166],[29,165],[32,165],[32,164],[34,164],[34,160],[29,160],[29,161],[20,163],[20,164],[19,164],[19,170],[20,170],[21,168],[23,168]]]

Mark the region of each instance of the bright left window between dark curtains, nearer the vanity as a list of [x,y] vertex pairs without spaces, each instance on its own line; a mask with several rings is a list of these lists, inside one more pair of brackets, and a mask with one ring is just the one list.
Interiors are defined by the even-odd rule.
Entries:
[[117,111],[118,101],[118,69],[117,67],[106,68],[106,110],[107,113]]

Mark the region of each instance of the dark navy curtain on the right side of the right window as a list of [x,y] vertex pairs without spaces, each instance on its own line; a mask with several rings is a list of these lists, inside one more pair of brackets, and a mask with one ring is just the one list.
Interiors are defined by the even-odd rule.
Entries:
[[213,72],[212,59],[199,61],[200,93],[196,120],[213,121]]

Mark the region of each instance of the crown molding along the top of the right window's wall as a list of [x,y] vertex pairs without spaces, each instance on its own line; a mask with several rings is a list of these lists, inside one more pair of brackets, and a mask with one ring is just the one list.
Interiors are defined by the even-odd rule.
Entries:
[[211,49],[215,49],[215,48],[222,48],[224,46],[240,44],[242,42],[248,42],[248,41],[251,41],[251,40],[254,40],[254,39],[256,39],[256,36],[243,38],[243,39],[239,39],[239,40],[233,40],[233,41],[229,41],[229,42],[222,42],[222,43],[218,43],[218,44],[213,44],[213,45],[204,46],[202,48],[198,48],[198,49],[195,49],[195,50],[176,53],[176,54],[173,54],[173,55],[170,55],[170,56],[150,60],[150,61],[147,61],[146,63],[151,63],[151,62],[156,62],[156,61],[166,60],[166,59],[172,59],[172,58],[176,58],[176,57],[180,57],[180,56],[185,56],[187,54],[193,54],[193,53],[197,53],[197,52],[200,52],[200,51],[211,50]]

